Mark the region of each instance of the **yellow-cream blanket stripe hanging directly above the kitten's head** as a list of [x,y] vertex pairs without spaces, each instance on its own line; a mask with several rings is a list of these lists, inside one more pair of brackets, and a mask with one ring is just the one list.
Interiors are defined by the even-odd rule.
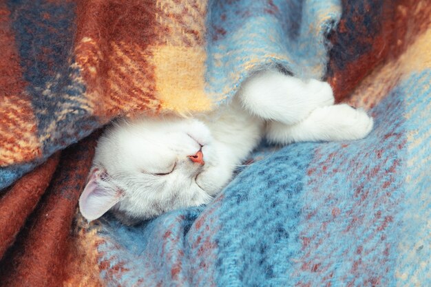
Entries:
[[155,67],[156,98],[162,111],[189,114],[208,111],[212,99],[205,93],[206,0],[156,1],[158,29],[165,31],[149,47]]

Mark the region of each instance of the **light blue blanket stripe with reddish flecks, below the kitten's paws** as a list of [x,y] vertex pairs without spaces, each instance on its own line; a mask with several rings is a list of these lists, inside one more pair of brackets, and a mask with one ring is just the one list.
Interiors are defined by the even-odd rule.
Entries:
[[392,248],[399,230],[393,218],[404,193],[404,96],[394,89],[371,110],[375,127],[365,140],[316,149],[301,200],[301,263],[289,272],[299,286],[368,286],[370,278],[395,286]]

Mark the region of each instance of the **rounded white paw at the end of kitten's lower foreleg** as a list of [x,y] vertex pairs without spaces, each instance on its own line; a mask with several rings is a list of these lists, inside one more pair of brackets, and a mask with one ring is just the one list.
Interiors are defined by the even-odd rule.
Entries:
[[373,120],[363,109],[346,104],[315,109],[311,120],[321,123],[330,134],[330,140],[359,140],[371,131]]

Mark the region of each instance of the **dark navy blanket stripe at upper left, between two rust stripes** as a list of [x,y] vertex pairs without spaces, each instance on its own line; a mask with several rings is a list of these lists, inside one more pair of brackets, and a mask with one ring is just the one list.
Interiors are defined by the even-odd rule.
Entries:
[[75,3],[21,2],[8,1],[8,7],[44,157],[1,168],[0,189],[44,162],[46,156],[100,126],[92,116],[92,107],[86,104],[85,85],[71,59],[76,32]]

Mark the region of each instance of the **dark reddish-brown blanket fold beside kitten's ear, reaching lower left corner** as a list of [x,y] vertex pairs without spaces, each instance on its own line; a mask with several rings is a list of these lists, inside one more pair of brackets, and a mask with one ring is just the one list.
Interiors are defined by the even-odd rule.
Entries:
[[38,209],[0,262],[0,286],[63,285],[70,226],[94,156],[96,134],[63,151]]

